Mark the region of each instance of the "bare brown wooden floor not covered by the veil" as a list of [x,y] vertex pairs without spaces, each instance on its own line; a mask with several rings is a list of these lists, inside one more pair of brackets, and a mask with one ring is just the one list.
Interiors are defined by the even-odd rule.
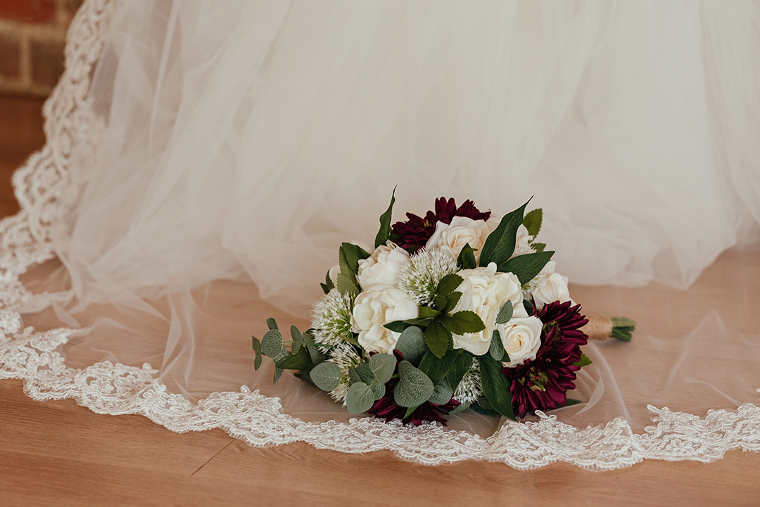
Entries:
[[[3,214],[17,209],[12,169],[44,142],[40,106],[0,96]],[[720,263],[751,266],[760,282],[756,252],[727,254]],[[713,297],[699,294],[700,286],[679,297]],[[578,290],[579,300],[600,306],[673,296],[659,285]],[[758,288],[748,294],[758,298]],[[760,453],[729,452],[712,464],[644,461],[603,473],[568,464],[536,471],[473,461],[423,466],[390,452],[255,449],[220,430],[179,435],[140,416],[93,414],[71,400],[34,402],[21,381],[0,381],[0,506],[238,504],[760,505]]]

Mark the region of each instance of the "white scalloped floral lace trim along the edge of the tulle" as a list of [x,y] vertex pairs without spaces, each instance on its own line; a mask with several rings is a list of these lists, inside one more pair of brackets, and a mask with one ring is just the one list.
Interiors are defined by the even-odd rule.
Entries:
[[[53,257],[50,226],[78,195],[68,178],[69,164],[76,163],[75,152],[86,155],[97,144],[98,119],[87,90],[117,3],[87,0],[71,24],[66,71],[43,111],[47,144],[14,174],[21,212],[0,222],[0,308],[44,297],[30,294],[18,276],[33,263]],[[373,417],[349,424],[310,423],[284,414],[279,398],[245,386],[193,404],[168,392],[148,364],[66,367],[60,348],[81,330],[21,328],[18,313],[0,310],[0,379],[24,379],[24,392],[31,398],[73,398],[99,414],[141,414],[178,433],[219,428],[252,446],[303,441],[349,453],[388,449],[424,464],[474,459],[529,469],[565,461],[596,470],[622,468],[645,458],[709,462],[732,449],[760,451],[760,408],[751,404],[709,411],[705,417],[650,406],[656,426],[641,435],[632,433],[622,418],[581,429],[539,413],[535,423],[508,421],[488,438],[437,424],[404,427]]]

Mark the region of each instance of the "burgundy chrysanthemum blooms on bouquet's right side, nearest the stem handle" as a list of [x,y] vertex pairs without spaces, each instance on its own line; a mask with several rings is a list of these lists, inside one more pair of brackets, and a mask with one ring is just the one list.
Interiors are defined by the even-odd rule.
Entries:
[[528,411],[551,410],[565,405],[568,389],[575,389],[575,366],[581,360],[581,345],[588,337],[581,327],[588,322],[581,315],[581,305],[555,301],[534,315],[543,322],[541,347],[533,361],[515,368],[503,368],[510,380],[515,415]]

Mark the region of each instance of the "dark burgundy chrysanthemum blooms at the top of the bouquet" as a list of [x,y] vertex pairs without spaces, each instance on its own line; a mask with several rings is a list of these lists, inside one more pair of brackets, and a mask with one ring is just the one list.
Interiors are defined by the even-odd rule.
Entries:
[[449,200],[446,200],[445,197],[439,197],[435,200],[435,212],[429,211],[425,218],[407,213],[406,222],[396,222],[391,227],[391,238],[398,246],[416,252],[425,246],[430,236],[435,232],[436,223],[449,224],[454,216],[466,216],[473,220],[488,220],[491,212],[481,213],[475,207],[475,203],[469,199],[457,207],[453,197]]

